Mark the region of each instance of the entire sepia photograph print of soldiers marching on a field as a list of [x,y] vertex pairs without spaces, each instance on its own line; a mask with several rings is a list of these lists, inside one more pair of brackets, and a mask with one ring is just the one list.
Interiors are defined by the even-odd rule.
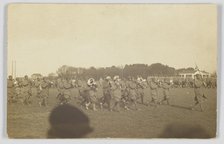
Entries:
[[217,137],[216,4],[6,11],[8,138]]

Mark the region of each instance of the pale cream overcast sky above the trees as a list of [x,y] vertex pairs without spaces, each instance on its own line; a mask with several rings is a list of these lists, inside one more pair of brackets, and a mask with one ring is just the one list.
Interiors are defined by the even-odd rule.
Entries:
[[11,4],[8,74],[62,65],[162,63],[216,71],[217,10],[208,4]]

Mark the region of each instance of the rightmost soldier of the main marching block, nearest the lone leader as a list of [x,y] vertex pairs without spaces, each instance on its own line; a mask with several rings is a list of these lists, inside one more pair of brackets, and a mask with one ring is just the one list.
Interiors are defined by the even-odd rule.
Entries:
[[161,100],[160,104],[162,104],[163,102],[167,102],[167,104],[169,105],[169,91],[170,91],[170,80],[169,78],[165,78],[163,84],[162,84],[162,89],[163,89],[163,99]]

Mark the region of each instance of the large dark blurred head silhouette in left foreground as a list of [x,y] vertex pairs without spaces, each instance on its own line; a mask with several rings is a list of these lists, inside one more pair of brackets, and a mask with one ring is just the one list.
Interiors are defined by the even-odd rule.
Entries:
[[89,118],[78,108],[64,104],[54,108],[49,117],[48,138],[83,138],[93,129]]

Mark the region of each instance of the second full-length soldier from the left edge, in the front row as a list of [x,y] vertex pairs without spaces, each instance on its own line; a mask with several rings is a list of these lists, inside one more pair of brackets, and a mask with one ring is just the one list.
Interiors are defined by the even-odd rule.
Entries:
[[30,105],[31,104],[31,83],[27,75],[24,76],[22,81],[22,96],[23,96],[23,104]]

